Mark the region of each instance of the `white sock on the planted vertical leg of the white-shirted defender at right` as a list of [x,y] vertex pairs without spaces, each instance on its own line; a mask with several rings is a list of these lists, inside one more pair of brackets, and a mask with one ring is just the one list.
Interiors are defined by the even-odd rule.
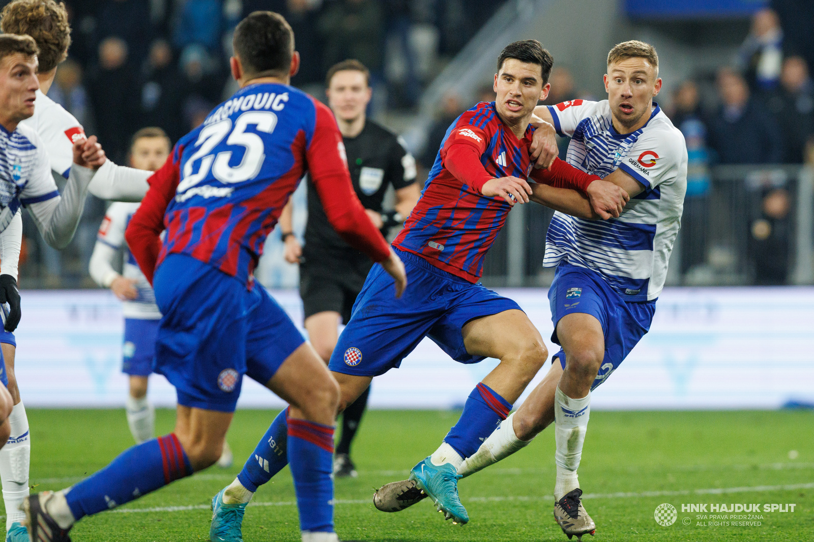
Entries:
[[557,442],[557,452],[554,454],[557,462],[555,500],[580,487],[576,470],[580,466],[590,413],[590,392],[581,399],[572,399],[557,387],[554,392],[554,439]]

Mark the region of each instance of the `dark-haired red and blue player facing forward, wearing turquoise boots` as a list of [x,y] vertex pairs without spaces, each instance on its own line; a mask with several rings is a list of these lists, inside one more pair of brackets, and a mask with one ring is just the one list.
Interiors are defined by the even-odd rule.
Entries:
[[[439,451],[414,469],[423,477],[421,487],[440,502],[448,518],[460,522],[468,518],[457,498],[457,464],[505,419],[547,356],[540,333],[518,304],[476,283],[485,251],[505,214],[530,197],[587,217],[594,209],[618,215],[623,206],[618,187],[558,161],[549,171],[535,173],[545,184],[532,189],[527,183],[533,133],[528,125],[537,100],[548,92],[551,63],[536,41],[505,48],[498,61],[496,102],[479,104],[449,129],[422,199],[405,233],[396,238],[394,246],[410,277],[403,299],[391,299],[397,286],[374,265],[329,365],[339,382],[339,408],[344,409],[373,376],[398,367],[425,336],[462,363],[501,360],[472,391],[461,421]],[[556,146],[549,155],[556,155]],[[584,195],[586,186],[591,203]],[[281,452],[287,441],[286,419],[281,413],[274,420],[226,492],[251,496],[282,470],[287,462]],[[415,487],[415,481],[410,483]],[[217,514],[216,521],[221,521]],[[223,521],[234,524],[240,519],[226,520],[224,514]]]

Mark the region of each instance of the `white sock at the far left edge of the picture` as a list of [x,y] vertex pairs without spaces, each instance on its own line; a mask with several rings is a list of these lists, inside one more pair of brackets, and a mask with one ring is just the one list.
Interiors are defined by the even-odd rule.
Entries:
[[0,480],[2,500],[6,503],[6,530],[11,523],[22,522],[25,514],[20,505],[28,496],[28,466],[31,464],[31,439],[28,435],[28,417],[23,402],[14,405],[8,417],[11,436],[0,450]]

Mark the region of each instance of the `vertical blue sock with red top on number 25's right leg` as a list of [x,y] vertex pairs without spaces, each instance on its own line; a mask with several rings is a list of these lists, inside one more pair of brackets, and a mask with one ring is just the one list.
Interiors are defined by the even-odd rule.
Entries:
[[288,419],[288,461],[302,531],[334,531],[333,460],[333,427]]

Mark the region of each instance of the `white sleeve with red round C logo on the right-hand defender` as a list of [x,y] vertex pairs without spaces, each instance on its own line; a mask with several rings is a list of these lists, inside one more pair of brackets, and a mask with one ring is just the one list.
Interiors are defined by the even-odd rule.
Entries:
[[658,127],[639,136],[619,168],[645,186],[647,192],[678,177],[681,163],[686,164],[686,160],[687,147],[681,132]]

